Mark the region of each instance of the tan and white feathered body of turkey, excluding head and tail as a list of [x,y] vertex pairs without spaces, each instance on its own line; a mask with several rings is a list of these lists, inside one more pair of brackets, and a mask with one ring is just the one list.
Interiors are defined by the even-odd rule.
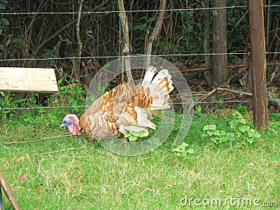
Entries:
[[130,127],[132,130],[155,127],[150,125],[152,104],[148,88],[122,83],[93,102],[81,116],[80,126],[94,139],[123,137],[125,129]]

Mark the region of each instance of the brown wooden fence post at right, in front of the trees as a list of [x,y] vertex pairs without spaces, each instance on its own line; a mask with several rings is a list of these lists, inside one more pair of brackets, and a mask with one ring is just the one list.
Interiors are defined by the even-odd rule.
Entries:
[[255,127],[267,129],[267,83],[265,57],[265,27],[263,1],[249,0],[251,35],[251,71],[253,93],[253,122]]

